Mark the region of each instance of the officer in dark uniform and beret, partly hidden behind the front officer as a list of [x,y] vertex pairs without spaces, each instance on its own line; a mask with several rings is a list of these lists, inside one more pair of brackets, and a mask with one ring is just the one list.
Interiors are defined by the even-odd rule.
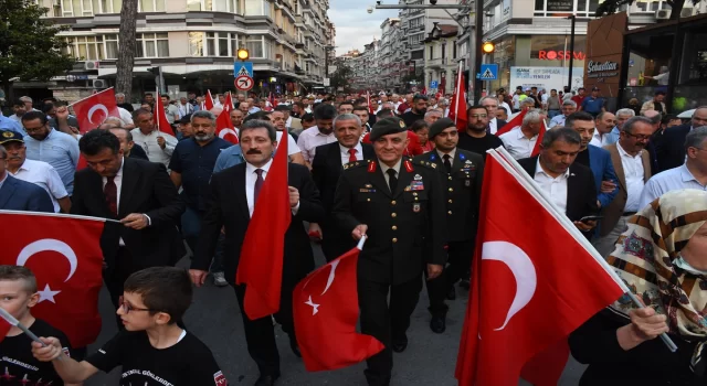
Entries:
[[430,297],[430,329],[446,330],[447,305],[444,297],[454,300],[454,285],[468,271],[474,254],[474,238],[478,222],[478,203],[484,179],[484,157],[456,147],[458,131],[450,118],[439,119],[430,127],[430,140],[435,150],[418,156],[413,163],[433,165],[444,181],[446,193],[449,266],[434,280],[428,281]]

